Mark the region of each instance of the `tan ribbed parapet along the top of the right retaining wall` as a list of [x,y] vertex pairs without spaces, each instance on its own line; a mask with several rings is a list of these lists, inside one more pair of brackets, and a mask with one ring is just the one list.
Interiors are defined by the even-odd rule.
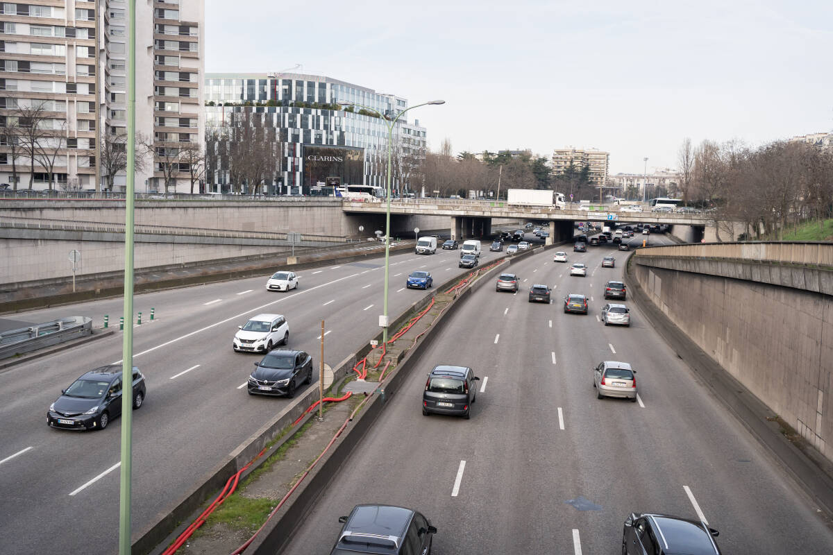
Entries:
[[826,242],[754,241],[651,246],[636,250],[634,255],[637,257],[725,258],[769,264],[796,264],[833,268],[833,243]]

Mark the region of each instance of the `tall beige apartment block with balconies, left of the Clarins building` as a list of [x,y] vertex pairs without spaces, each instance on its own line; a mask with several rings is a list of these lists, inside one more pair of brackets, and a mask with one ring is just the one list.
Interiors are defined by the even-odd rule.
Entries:
[[[0,7],[0,186],[124,191],[127,2]],[[137,191],[185,192],[194,180],[203,12],[203,0],[137,2]]]

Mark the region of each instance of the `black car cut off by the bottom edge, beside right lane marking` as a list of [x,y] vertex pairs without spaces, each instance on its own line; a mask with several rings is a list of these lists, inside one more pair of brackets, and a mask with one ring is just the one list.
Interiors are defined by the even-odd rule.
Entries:
[[701,521],[667,514],[631,513],[622,530],[622,555],[721,555],[720,533]]

